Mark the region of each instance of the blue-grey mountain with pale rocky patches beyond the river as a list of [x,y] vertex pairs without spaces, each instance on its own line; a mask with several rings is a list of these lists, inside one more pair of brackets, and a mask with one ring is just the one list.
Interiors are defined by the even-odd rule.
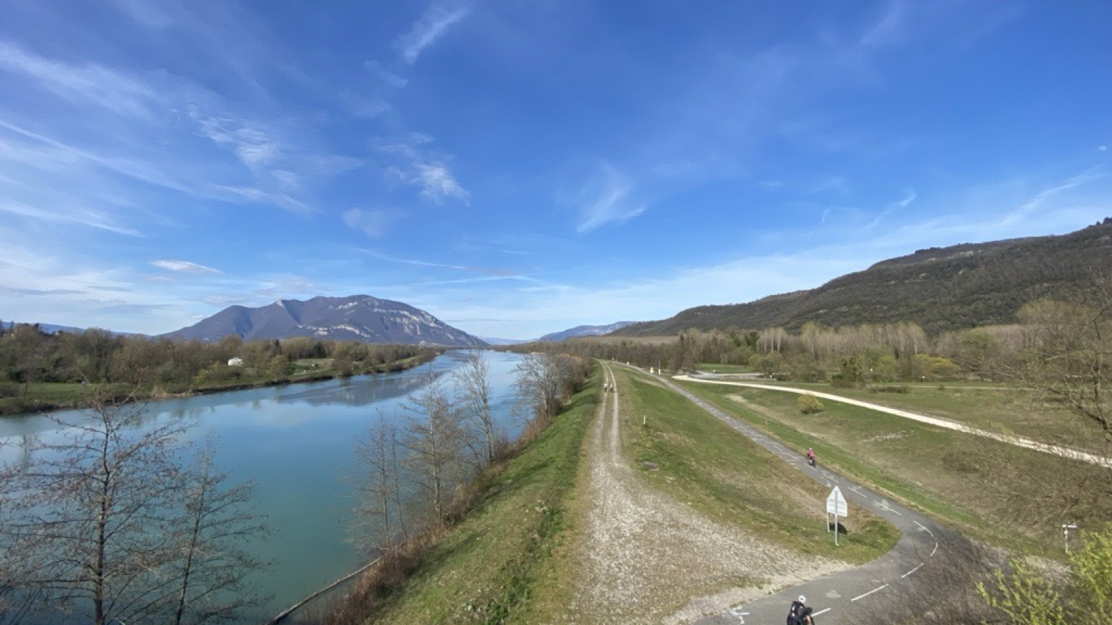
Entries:
[[244,340],[305,336],[328,340],[445,347],[486,345],[424,310],[400,301],[366,295],[314,297],[308,301],[279,299],[259,308],[230,306],[188,328],[162,336],[219,340],[228,335],[236,335]]

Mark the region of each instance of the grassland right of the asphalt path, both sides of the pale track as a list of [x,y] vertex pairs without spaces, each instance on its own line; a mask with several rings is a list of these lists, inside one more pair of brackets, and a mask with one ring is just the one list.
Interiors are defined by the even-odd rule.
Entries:
[[[1056,498],[1086,480],[1109,479],[1109,469],[961,434],[866,408],[824,401],[803,415],[797,395],[684,383],[715,405],[800,449],[814,447],[820,462],[911,504],[962,533],[991,544],[1059,557]],[[970,426],[1058,443],[1076,439],[1088,425],[1064,419],[1055,407],[1032,409],[1029,394],[970,386],[917,386],[884,394],[790,385],[940,416]],[[983,386],[983,385],[981,385]],[[1072,426],[1065,425],[1072,424]],[[1072,431],[1071,431],[1072,428]],[[1112,515],[1112,502],[1074,510],[1086,525]],[[1050,517],[1050,518],[1049,518]]]

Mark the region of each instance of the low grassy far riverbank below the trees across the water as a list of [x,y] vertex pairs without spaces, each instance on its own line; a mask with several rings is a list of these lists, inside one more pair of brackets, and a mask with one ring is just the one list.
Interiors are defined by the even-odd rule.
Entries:
[[[108,401],[158,401],[163,399],[175,399],[181,397],[192,397],[197,395],[211,395],[215,393],[226,393],[232,390],[248,390],[252,388],[266,388],[272,386],[286,386],[291,384],[302,384],[310,381],[322,381],[341,377],[354,377],[361,375],[377,375],[404,371],[431,361],[444,350],[418,354],[408,358],[384,363],[360,369],[349,369],[339,371],[330,368],[305,369],[290,375],[282,376],[259,376],[245,380],[242,377],[235,381],[215,381],[197,386],[187,386],[181,389],[155,385],[149,387],[138,387],[128,384],[107,384],[97,387],[100,398]],[[85,406],[89,385],[72,383],[32,383],[29,385],[13,385],[18,396],[0,396],[0,418],[11,417],[32,413],[52,413],[57,410],[71,410]]]

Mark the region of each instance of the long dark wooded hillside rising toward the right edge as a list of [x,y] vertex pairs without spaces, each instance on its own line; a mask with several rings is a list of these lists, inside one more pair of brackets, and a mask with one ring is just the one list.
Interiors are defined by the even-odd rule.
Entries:
[[1014,323],[1024,304],[1092,290],[1093,272],[1112,274],[1112,218],[1069,235],[919,250],[815,289],[748,304],[698,306],[614,334],[662,336],[688,328],[777,326],[794,331],[806,321],[833,327],[914,321],[934,335]]

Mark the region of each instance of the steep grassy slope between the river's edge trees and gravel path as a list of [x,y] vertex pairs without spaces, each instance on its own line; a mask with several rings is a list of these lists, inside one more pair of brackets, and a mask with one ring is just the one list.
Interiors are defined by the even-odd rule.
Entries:
[[[572,579],[553,575],[554,550],[568,537],[568,507],[579,450],[598,401],[592,379],[568,409],[505,472],[483,504],[430,554],[375,623],[500,623],[529,613],[539,587],[546,601],[569,596]],[[559,585],[563,584],[564,591]],[[554,598],[555,597],[555,598]]]

